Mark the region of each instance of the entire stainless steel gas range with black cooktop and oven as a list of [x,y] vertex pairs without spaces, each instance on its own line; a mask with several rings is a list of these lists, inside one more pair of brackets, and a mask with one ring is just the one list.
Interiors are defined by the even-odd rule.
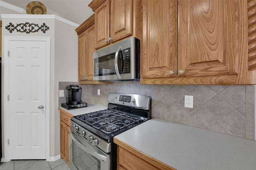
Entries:
[[151,97],[108,94],[108,109],[71,118],[70,170],[116,170],[114,136],[151,119]]

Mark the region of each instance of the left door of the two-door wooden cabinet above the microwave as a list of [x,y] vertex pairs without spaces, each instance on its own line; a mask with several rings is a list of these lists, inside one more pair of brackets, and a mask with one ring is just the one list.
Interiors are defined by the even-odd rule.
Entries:
[[106,0],[94,12],[95,16],[95,47],[109,44],[110,1]]

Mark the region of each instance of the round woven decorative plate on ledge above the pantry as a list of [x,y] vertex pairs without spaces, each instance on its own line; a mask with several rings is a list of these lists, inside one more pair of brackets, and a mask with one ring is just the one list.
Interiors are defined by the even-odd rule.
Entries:
[[26,7],[27,14],[46,14],[44,4],[39,1],[32,1]]

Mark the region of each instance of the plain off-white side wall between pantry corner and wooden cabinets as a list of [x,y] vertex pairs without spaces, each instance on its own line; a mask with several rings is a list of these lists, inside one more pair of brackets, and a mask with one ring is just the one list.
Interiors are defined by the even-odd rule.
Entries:
[[[55,156],[60,153],[60,112],[58,111],[58,82],[78,81],[78,36],[76,27],[55,21],[54,58],[54,143]],[[52,119],[52,118],[51,118]]]

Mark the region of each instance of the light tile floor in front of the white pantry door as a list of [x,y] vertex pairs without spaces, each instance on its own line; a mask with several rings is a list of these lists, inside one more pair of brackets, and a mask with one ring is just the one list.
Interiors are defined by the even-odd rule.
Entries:
[[70,170],[64,159],[52,162],[46,160],[11,160],[0,162],[0,170]]

